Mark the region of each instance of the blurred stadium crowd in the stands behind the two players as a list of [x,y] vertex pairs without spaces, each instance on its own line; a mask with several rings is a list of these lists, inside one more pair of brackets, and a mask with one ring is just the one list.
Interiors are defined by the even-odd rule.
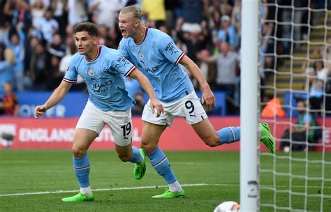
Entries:
[[[274,55],[286,54],[291,46],[288,41],[276,41],[276,37],[290,36],[288,24],[279,24],[274,30],[275,17],[285,22],[290,18],[290,10],[276,10],[274,4],[268,3],[288,6],[291,1],[262,2],[260,52],[264,56],[260,56],[260,77],[264,84],[273,73],[265,70],[274,70],[281,64]],[[321,2],[295,0],[294,6],[310,3],[310,7],[318,8]],[[147,27],[168,33],[198,64],[214,91],[226,92],[228,114],[239,114],[240,0],[0,0],[0,92],[6,82],[13,85],[14,91],[54,90],[75,54],[73,27],[80,22],[98,24],[99,44],[117,49],[122,38],[118,13],[132,4],[141,8]],[[295,11],[296,23],[307,22],[307,13]],[[307,37],[307,27],[300,25],[294,31],[293,40]],[[199,89],[198,83],[192,81]],[[131,96],[142,99],[135,80],[127,79],[126,85]],[[82,79],[71,90],[85,91]]]

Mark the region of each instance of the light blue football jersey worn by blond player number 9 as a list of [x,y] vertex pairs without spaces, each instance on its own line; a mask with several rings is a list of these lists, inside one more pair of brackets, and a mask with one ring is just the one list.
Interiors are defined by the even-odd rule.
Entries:
[[119,51],[149,79],[162,102],[175,102],[193,91],[189,76],[178,65],[184,52],[168,34],[146,28],[141,43],[122,38]]

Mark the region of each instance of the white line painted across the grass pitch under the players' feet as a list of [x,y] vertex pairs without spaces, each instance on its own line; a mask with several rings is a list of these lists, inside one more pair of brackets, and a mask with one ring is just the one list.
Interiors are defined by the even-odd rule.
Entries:
[[[193,186],[240,186],[239,184],[207,184],[207,183],[196,183],[196,184],[182,184],[183,187],[193,187]],[[273,188],[273,185],[260,185],[261,188]],[[137,187],[122,187],[122,188],[96,188],[92,191],[105,191],[105,190],[136,190],[136,189],[146,189],[146,188],[165,188],[168,185],[149,185],[149,186],[137,186]],[[277,185],[277,187],[288,187],[288,185]],[[294,188],[321,188],[321,186],[304,186],[295,185]],[[331,188],[330,186],[325,186],[324,188]],[[10,197],[10,196],[24,196],[24,195],[49,195],[57,193],[71,193],[79,192],[80,190],[56,190],[56,191],[41,191],[41,192],[25,192],[25,193],[15,193],[15,194],[3,194],[0,197]]]

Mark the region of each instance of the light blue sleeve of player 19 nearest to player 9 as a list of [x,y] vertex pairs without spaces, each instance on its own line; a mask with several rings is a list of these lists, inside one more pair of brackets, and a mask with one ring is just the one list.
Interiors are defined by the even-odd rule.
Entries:
[[112,58],[112,68],[126,77],[135,69],[135,66],[119,51],[116,51]]

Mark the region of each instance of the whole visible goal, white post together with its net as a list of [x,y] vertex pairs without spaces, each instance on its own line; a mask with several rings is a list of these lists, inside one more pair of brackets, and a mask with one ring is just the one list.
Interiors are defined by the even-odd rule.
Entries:
[[[242,0],[240,209],[331,211],[331,0],[307,0],[306,5],[304,0],[261,1]],[[267,12],[274,15],[261,22]],[[263,28],[265,23],[272,25],[270,33]],[[311,109],[309,92],[321,77],[311,68],[318,62],[329,73],[323,80],[321,108]],[[265,75],[263,84],[260,73]],[[286,116],[261,117],[268,102],[260,98],[262,94],[278,98]],[[302,127],[296,122],[299,99],[307,105],[304,114],[316,114],[318,122],[309,127],[304,142],[292,133]],[[260,151],[259,122],[270,124],[277,153]],[[284,138],[287,128],[289,137]],[[311,142],[309,132],[318,129],[321,137]],[[284,141],[290,144],[285,151],[279,149]],[[295,151],[297,144],[307,148]]]

